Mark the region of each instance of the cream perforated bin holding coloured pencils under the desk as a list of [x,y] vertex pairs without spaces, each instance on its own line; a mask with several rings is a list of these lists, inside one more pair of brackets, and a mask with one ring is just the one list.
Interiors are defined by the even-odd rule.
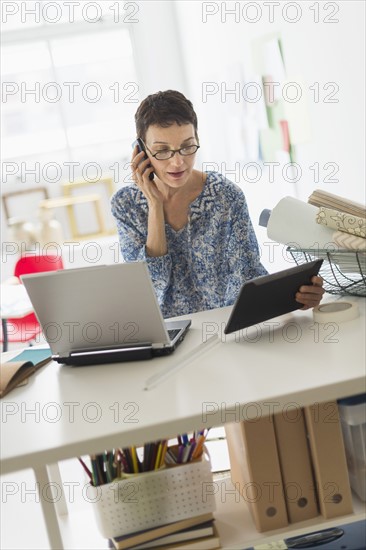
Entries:
[[211,462],[203,456],[176,468],[90,485],[87,497],[99,531],[112,538],[213,512],[214,493]]

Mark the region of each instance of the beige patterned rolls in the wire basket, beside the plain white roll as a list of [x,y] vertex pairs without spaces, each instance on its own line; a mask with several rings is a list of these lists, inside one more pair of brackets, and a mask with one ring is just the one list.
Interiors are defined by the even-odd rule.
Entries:
[[364,205],[320,189],[308,203],[319,208],[316,222],[334,229],[333,241],[342,249],[366,250],[366,208]]

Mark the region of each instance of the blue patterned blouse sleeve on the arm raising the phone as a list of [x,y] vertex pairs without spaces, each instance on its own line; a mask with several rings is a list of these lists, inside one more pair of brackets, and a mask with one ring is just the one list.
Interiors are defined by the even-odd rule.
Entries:
[[170,282],[172,268],[170,254],[153,257],[146,253],[147,216],[127,193],[117,192],[112,197],[111,207],[117,222],[124,261],[146,262],[158,301],[161,303]]

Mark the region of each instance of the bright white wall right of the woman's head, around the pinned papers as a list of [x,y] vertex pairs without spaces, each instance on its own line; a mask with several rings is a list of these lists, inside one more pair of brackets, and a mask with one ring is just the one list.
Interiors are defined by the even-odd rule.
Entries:
[[[269,4],[276,4],[272,22]],[[260,243],[268,239],[257,226],[259,213],[287,194],[306,201],[314,189],[323,188],[365,203],[365,3],[179,1],[175,6],[190,97],[199,114],[201,159],[216,162],[242,186]],[[319,9],[318,14],[311,6]],[[300,14],[297,22],[288,21]],[[249,22],[258,16],[257,22]],[[288,80],[301,85],[307,103],[304,123],[309,125],[310,139],[296,146],[302,175],[295,184],[282,177],[282,167],[274,169],[272,182],[266,170],[258,182],[250,181],[251,176],[248,181],[248,172],[243,172],[252,160],[244,153],[243,113],[248,105],[224,93],[238,82],[243,86],[255,79],[252,41],[276,32],[281,36]],[[223,95],[208,96],[204,102],[208,82],[216,83]],[[309,88],[314,83],[319,83],[318,102]],[[324,102],[336,86],[339,90],[328,99],[337,103]],[[240,170],[235,173],[238,162]],[[327,182],[333,170],[332,179],[338,181]],[[262,260],[268,266],[269,258]]]

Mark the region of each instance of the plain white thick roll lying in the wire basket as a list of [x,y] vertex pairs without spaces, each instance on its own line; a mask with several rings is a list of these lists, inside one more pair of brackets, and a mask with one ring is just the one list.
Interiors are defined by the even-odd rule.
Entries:
[[284,197],[273,208],[267,235],[273,241],[302,249],[335,247],[334,231],[316,223],[318,208],[293,197]]

